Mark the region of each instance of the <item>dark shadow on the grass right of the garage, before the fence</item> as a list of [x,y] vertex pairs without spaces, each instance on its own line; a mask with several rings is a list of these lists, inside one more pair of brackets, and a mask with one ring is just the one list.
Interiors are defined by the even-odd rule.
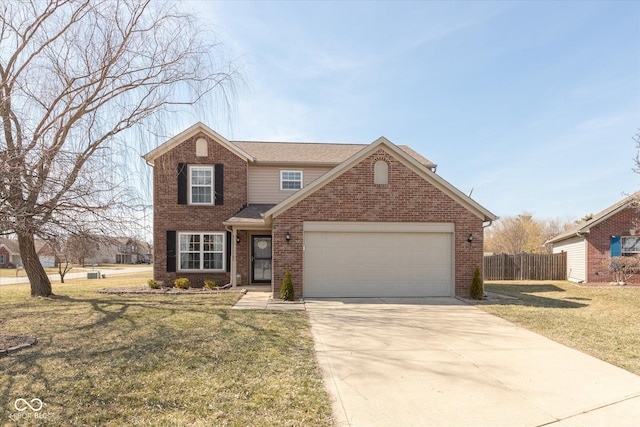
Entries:
[[[490,301],[499,305],[524,305],[528,307],[543,308],[583,308],[589,304],[576,302],[589,301],[588,298],[564,297],[546,297],[537,294],[540,293],[563,293],[566,290],[553,284],[485,284],[485,291],[498,295],[498,301]],[[506,295],[510,298],[500,298]]]

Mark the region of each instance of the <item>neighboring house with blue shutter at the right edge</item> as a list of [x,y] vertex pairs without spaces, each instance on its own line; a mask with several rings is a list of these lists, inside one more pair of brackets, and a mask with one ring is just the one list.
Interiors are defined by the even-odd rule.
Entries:
[[[567,278],[579,283],[607,282],[612,256],[640,254],[638,197],[629,196],[550,239],[553,253],[567,253]],[[634,277],[630,281],[637,281]]]

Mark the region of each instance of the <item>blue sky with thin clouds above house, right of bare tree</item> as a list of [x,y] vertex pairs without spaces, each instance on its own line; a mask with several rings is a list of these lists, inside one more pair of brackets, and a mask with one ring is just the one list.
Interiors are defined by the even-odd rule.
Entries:
[[184,7],[245,65],[234,108],[197,117],[229,139],[385,136],[499,216],[573,220],[638,189],[640,2]]

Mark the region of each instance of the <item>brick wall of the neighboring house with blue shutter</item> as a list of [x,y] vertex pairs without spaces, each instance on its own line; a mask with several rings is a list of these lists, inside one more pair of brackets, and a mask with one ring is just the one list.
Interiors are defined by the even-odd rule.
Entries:
[[[637,208],[627,207],[590,228],[587,237],[587,283],[613,280],[605,267],[611,253],[611,236],[629,236],[631,229],[638,229],[637,234],[640,235],[639,216]],[[640,283],[640,277],[633,276],[629,282]]]

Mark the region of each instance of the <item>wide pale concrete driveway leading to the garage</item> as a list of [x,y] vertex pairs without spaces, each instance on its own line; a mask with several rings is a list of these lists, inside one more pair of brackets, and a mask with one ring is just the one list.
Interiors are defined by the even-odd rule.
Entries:
[[306,300],[345,426],[638,426],[640,377],[453,298]]

